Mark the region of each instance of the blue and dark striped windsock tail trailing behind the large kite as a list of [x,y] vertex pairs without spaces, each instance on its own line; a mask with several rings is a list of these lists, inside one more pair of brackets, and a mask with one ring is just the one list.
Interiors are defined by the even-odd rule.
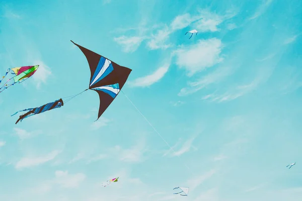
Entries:
[[[64,105],[63,100],[60,98],[58,100],[55,100],[52,103],[45,104],[45,105],[43,105],[41,107],[38,107],[38,108],[29,108],[29,109],[25,109],[25,110],[22,110],[22,111],[18,111],[18,112],[23,112],[23,111],[29,111],[29,112],[21,115],[20,118],[17,120],[16,124],[19,121],[22,122],[22,120],[25,119],[25,118],[28,118],[30,116],[37,115],[37,114],[40,114],[40,113],[44,113],[46,111],[53,110],[55,108],[60,108],[63,105]],[[16,115],[18,112],[16,112],[12,116]]]

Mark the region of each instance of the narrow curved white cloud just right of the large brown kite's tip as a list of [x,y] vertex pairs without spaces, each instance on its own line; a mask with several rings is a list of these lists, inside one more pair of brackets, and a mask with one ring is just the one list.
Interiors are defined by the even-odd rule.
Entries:
[[166,63],[164,66],[158,68],[154,73],[146,75],[144,77],[136,78],[134,81],[130,82],[132,86],[150,86],[162,79],[164,75],[168,72],[170,63]]

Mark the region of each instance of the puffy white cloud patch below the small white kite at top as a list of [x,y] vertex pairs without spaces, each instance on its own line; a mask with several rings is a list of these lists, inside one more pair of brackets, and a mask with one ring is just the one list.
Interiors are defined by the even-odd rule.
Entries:
[[223,59],[219,54],[222,44],[219,39],[199,40],[196,45],[176,50],[177,65],[188,71],[188,76],[211,67]]

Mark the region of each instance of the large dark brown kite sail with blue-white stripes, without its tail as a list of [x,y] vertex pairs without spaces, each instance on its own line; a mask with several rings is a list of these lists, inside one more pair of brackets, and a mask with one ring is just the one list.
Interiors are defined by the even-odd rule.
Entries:
[[122,89],[132,70],[71,42],[81,49],[89,63],[89,89],[95,90],[100,97],[99,119]]

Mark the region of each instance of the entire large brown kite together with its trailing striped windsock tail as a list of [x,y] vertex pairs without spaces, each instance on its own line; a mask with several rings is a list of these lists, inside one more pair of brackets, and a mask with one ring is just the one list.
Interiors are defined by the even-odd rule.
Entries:
[[[71,41],[74,45],[78,46],[83,54],[86,56],[90,67],[90,84],[89,88],[84,91],[91,89],[96,91],[100,97],[100,106],[99,106],[99,114],[98,119],[105,112],[105,110],[109,107],[109,105],[113,102],[114,98],[120,92],[122,87],[124,86],[126,80],[130,72],[132,71],[130,68],[126,68],[124,66],[120,66],[113,61],[99,55],[89,49],[86,49],[73,41]],[[64,102],[67,103],[70,99],[74,98],[77,95],[82,94],[84,91],[68,96]],[[66,98],[66,97],[65,97]],[[64,105],[63,98],[56,100],[55,102],[45,104],[41,107],[30,108],[22,111],[29,111],[20,116],[16,124],[27,117],[32,115],[40,114],[55,108],[60,108]],[[18,112],[22,112],[18,111]],[[18,113],[17,112],[17,113]],[[14,115],[16,115],[15,113]],[[12,115],[13,116],[13,115]],[[97,119],[97,120],[98,120]]]

